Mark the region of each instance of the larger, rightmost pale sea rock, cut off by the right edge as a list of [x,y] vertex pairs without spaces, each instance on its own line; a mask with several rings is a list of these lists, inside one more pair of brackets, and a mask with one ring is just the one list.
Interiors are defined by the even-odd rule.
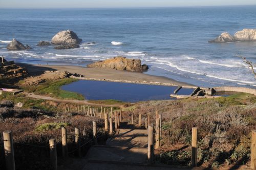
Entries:
[[256,29],[243,29],[234,34],[236,41],[256,41]]

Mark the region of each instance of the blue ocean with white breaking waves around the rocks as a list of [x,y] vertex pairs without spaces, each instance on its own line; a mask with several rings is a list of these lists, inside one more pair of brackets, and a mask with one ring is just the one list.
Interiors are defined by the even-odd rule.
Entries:
[[[256,29],[256,6],[1,9],[0,23],[0,55],[17,62],[86,66],[122,55],[149,65],[145,74],[205,87],[256,86],[250,68],[237,57],[256,63],[256,42],[208,43],[222,32]],[[51,40],[67,29],[83,39],[79,49],[36,46],[39,40]],[[8,51],[12,38],[33,49]]]

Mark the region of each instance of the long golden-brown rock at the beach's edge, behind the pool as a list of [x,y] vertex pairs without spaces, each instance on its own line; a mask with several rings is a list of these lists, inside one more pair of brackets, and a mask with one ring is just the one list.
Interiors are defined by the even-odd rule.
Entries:
[[87,65],[89,68],[105,68],[116,70],[128,70],[135,72],[143,72],[148,69],[147,65],[141,65],[140,59],[129,59],[125,57],[114,57],[104,61],[96,61]]

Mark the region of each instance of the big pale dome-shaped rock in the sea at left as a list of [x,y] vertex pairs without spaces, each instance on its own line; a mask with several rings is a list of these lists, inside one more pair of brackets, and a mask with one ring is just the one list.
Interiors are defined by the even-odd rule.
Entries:
[[52,44],[55,45],[78,45],[81,41],[71,30],[60,31],[52,38]]

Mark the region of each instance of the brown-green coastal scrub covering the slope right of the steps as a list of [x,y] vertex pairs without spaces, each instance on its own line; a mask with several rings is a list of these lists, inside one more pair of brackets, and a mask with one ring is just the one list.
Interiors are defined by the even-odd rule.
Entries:
[[198,127],[199,166],[230,168],[250,159],[251,130],[256,129],[255,96],[238,93],[212,99],[146,101],[123,109],[124,115],[150,114],[151,122],[155,122],[156,111],[162,114],[163,129],[156,162],[191,165],[193,127]]

